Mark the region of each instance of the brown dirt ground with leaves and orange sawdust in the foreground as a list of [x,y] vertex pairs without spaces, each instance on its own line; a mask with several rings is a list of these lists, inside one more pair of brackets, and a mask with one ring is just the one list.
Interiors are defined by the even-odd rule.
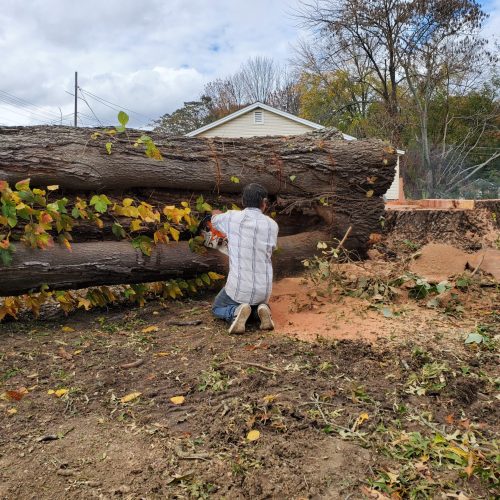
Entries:
[[498,287],[388,266],[276,283],[272,333],[210,294],[2,323],[0,498],[495,498]]

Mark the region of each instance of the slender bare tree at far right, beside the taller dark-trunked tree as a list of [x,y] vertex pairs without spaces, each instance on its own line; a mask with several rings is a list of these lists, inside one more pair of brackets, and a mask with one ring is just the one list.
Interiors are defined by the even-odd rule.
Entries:
[[471,77],[473,81],[486,63],[496,63],[495,57],[484,50],[486,41],[479,37],[485,17],[474,0],[421,1],[413,12],[413,30],[406,30],[402,36],[405,50],[398,57],[418,111],[418,142],[431,196],[453,191],[498,156],[494,153],[477,165],[468,165],[491,122],[487,114],[474,111],[470,117],[462,117],[468,122],[468,131],[457,144],[447,140],[454,116],[444,117],[440,146],[434,146],[429,134],[429,109],[436,95],[460,95],[470,89]]

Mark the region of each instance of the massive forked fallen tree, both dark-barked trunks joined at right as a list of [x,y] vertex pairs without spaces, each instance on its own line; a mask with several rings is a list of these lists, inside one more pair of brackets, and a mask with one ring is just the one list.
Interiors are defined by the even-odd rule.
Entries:
[[[258,182],[268,190],[271,210],[288,235],[280,241],[278,274],[311,256],[317,241],[340,239],[349,227],[345,247],[359,253],[366,250],[370,234],[379,232],[382,195],[396,164],[395,150],[382,141],[346,141],[331,131],[250,139],[151,133],[163,156],[158,161],[135,145],[141,134],[128,130],[110,139],[101,129],[0,127],[0,180],[14,185],[30,178],[31,186],[39,188],[57,184],[70,200],[105,193],[174,204],[202,194],[213,206],[240,205],[243,187]],[[105,143],[110,140],[108,154]],[[17,244],[12,265],[0,267],[0,295],[45,283],[67,289],[225,269],[219,253],[193,254],[185,242],[157,246],[144,256],[127,242],[113,241],[109,227],[97,231],[83,223],[75,228],[71,253]]]

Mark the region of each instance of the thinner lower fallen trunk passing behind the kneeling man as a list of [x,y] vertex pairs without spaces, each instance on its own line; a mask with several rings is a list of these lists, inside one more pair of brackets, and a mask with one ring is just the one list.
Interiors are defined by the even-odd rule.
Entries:
[[[275,275],[301,268],[302,260],[315,253],[316,242],[328,238],[321,231],[279,238],[279,251],[273,257]],[[193,253],[186,242],[158,245],[151,257],[124,241],[77,243],[72,252],[17,245],[12,264],[0,270],[0,296],[6,296],[36,291],[42,283],[63,290],[190,278],[207,271],[226,273],[227,257],[216,250]]]

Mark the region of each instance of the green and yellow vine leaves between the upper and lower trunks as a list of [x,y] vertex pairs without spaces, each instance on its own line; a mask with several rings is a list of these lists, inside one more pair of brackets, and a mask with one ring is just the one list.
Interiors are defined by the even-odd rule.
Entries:
[[202,195],[193,207],[188,201],[155,207],[133,198],[110,199],[105,194],[55,198],[58,189],[57,185],[32,189],[29,179],[14,188],[0,181],[0,265],[11,264],[15,241],[33,249],[60,244],[71,251],[74,227],[94,224],[102,230],[103,217],[111,223],[116,239],[130,241],[144,255],[151,255],[155,245],[179,241],[181,233],[191,236],[190,247],[196,250],[200,241],[193,235],[198,217],[212,210]]

